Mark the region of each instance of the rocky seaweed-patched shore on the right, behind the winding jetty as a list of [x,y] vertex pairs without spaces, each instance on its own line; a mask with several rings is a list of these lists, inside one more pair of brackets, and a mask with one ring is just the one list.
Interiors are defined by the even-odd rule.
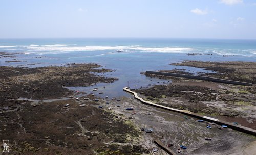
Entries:
[[[191,66],[216,71],[198,73],[203,76],[256,83],[254,62],[201,62],[185,61],[176,66]],[[185,69],[164,70],[164,72],[185,73]],[[157,77],[156,75],[147,75]],[[148,100],[177,109],[189,110],[202,115],[216,117],[229,122],[256,129],[256,88],[252,86],[228,85],[200,80],[158,76],[172,80],[169,85],[157,85],[147,89],[134,90]]]

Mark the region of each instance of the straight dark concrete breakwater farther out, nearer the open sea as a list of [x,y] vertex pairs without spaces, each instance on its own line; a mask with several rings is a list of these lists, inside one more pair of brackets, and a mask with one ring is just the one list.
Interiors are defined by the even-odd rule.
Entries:
[[183,77],[188,79],[197,79],[197,80],[205,80],[226,84],[234,84],[234,85],[244,85],[244,86],[252,86],[252,83],[219,79],[215,77],[207,77],[207,76],[197,76],[197,75],[186,75],[186,74],[178,74],[178,73],[167,73],[167,72],[159,72],[159,71],[146,71],[146,74],[154,74],[154,75],[164,75],[164,76],[173,76],[173,77]]

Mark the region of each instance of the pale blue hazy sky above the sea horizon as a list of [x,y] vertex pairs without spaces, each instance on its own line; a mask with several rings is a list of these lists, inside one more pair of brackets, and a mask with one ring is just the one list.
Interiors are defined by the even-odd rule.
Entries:
[[256,0],[0,0],[0,38],[256,39]]

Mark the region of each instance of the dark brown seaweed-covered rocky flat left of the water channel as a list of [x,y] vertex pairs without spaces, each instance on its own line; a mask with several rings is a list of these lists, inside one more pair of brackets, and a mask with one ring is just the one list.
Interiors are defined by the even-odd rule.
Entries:
[[[112,71],[99,67],[96,64],[0,67],[0,137],[10,140],[10,154],[148,152],[139,142],[128,143],[140,135],[133,125],[96,108],[99,103],[93,101],[95,97],[89,92],[66,88],[117,80],[97,75]],[[68,99],[70,95],[81,94],[90,101]],[[45,102],[49,99],[57,100]],[[65,107],[66,104],[69,106]]]

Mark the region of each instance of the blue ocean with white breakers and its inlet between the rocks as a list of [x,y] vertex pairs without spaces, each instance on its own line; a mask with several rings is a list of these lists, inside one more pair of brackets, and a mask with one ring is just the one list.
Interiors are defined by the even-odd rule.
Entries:
[[[170,83],[141,75],[145,70],[175,68],[197,74],[211,72],[202,68],[173,66],[171,63],[196,61],[252,61],[256,62],[256,40],[230,39],[170,39],[170,38],[44,38],[0,39],[0,52],[18,53],[16,58],[0,58],[1,66],[43,67],[67,63],[96,63],[114,70],[105,73],[117,77],[112,84],[99,83],[104,95],[129,96],[122,91],[148,87],[148,84]],[[196,55],[192,55],[196,54]],[[16,62],[8,62],[16,61]],[[103,89],[105,86],[105,89]],[[91,91],[92,87],[70,89]]]

